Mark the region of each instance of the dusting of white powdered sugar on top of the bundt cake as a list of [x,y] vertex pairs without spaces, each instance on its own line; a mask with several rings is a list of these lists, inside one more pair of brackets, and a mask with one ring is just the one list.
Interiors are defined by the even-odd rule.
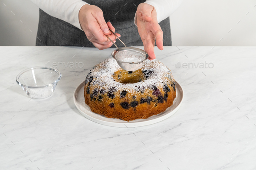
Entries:
[[[134,62],[134,61],[133,61]],[[146,60],[144,65],[141,67],[144,74],[148,73],[146,80],[138,83],[119,83],[114,80],[113,75],[115,71],[121,69],[114,58],[108,58],[101,63],[95,65],[90,73],[87,75],[85,84],[90,81],[93,86],[100,89],[109,90],[113,87],[119,90],[128,91],[140,91],[147,90],[147,88],[152,88],[152,86],[163,87],[165,83],[174,83],[174,77],[168,67],[162,64],[158,60]]]

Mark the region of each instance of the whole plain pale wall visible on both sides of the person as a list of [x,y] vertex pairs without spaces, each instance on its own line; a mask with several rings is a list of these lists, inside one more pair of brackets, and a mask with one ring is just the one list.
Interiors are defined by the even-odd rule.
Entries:
[[[255,0],[184,0],[170,18],[173,45],[254,46],[255,5]],[[0,0],[0,45],[35,45],[38,18],[30,0]]]

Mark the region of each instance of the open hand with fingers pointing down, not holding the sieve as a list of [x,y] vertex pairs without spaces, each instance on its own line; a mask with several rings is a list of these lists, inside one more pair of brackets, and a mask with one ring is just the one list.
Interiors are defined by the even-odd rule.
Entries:
[[154,60],[154,43],[157,41],[157,46],[160,50],[163,46],[163,31],[158,24],[157,12],[154,6],[147,3],[141,3],[137,8],[137,26],[138,32],[144,45],[144,50],[148,52],[149,60]]

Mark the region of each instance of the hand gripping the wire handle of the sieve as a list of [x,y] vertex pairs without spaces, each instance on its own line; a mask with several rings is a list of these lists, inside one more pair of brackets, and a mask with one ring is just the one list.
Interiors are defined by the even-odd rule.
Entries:
[[[84,5],[79,11],[79,22],[85,32],[86,37],[99,50],[103,50],[112,46],[112,42],[106,37],[115,42],[115,35],[108,29],[115,32],[115,28],[110,22],[106,23],[103,17],[102,10],[95,5]],[[116,34],[120,37],[120,34]]]

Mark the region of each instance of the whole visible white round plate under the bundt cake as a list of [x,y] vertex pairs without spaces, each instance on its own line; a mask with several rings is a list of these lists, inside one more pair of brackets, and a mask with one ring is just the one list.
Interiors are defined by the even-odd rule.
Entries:
[[175,87],[176,87],[176,98],[174,99],[174,103],[172,106],[168,107],[164,112],[159,113],[158,115],[152,115],[148,119],[136,119],[132,121],[125,121],[121,119],[114,119],[114,118],[107,118],[104,115],[99,115],[95,112],[92,112],[90,107],[85,104],[85,97],[84,97],[84,84],[85,82],[79,84],[78,87],[76,87],[74,92],[74,103],[76,108],[79,110],[79,112],[84,115],[87,119],[92,120],[93,122],[102,124],[102,125],[108,125],[108,126],[114,126],[114,127],[121,127],[121,128],[132,128],[132,127],[138,127],[138,126],[145,126],[145,125],[151,125],[157,122],[161,122],[164,119],[167,119],[171,115],[173,115],[177,110],[181,107],[181,103],[184,98],[184,93],[181,85],[175,81]]

